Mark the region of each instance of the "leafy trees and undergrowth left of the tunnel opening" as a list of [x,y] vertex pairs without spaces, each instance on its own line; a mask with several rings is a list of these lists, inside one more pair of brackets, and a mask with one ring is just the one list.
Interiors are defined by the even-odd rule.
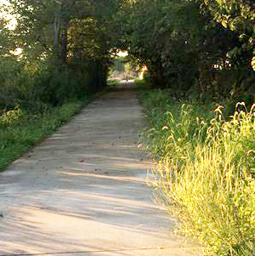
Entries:
[[[105,87],[118,1],[9,0],[1,20],[0,105],[61,105]],[[22,48],[20,56],[11,50]]]

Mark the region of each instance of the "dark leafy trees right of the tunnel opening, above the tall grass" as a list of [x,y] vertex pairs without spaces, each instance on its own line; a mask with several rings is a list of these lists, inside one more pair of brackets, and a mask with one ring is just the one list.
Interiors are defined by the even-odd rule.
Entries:
[[139,0],[126,1],[117,19],[155,87],[205,100],[253,93],[254,15],[248,0]]

